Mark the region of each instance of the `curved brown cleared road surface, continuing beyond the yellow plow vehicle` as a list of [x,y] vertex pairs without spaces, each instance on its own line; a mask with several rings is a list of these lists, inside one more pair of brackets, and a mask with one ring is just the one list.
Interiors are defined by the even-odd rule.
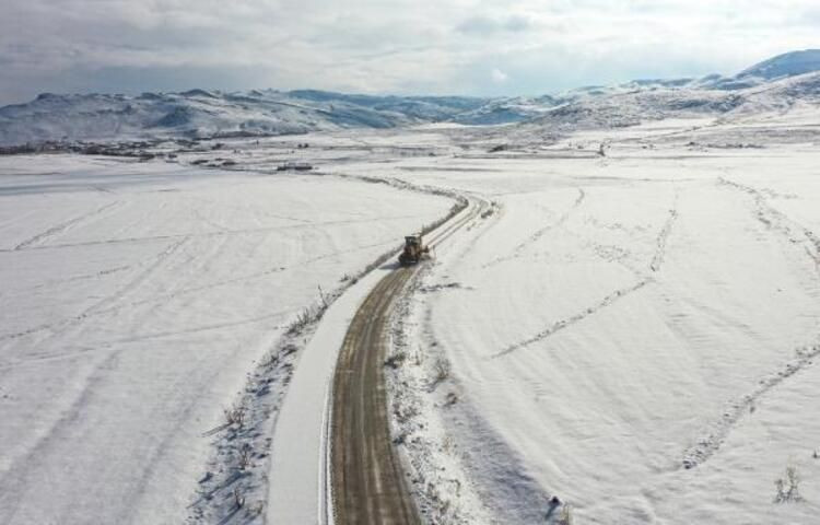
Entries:
[[[436,246],[479,217],[470,200],[431,235]],[[330,478],[337,525],[417,524],[419,514],[394,451],[384,361],[391,307],[419,266],[398,267],[370,292],[344,337],[332,385]]]

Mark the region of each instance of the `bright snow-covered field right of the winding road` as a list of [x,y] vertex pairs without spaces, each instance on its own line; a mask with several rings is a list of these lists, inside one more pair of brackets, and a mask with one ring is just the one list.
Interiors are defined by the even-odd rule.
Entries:
[[[501,208],[397,319],[395,431],[433,521],[538,523],[558,495],[574,523],[815,523],[818,121],[798,143],[761,126],[751,150],[692,129],[574,138],[611,141],[601,159],[391,166]],[[788,466],[805,501],[774,503]]]

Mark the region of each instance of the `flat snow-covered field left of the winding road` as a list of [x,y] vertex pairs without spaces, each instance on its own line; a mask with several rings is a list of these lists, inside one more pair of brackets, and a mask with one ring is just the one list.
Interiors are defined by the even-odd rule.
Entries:
[[0,159],[0,522],[181,523],[255,360],[317,287],[450,205],[335,177]]

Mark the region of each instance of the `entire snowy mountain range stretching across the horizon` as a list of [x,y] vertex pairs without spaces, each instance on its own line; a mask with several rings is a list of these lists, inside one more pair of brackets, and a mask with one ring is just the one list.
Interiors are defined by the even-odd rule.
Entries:
[[693,115],[746,115],[820,103],[820,50],[771,58],[734,77],[636,80],[535,97],[373,96],[325,91],[191,90],[139,96],[42,94],[0,108],[0,144],[304,133],[425,122],[620,127]]

